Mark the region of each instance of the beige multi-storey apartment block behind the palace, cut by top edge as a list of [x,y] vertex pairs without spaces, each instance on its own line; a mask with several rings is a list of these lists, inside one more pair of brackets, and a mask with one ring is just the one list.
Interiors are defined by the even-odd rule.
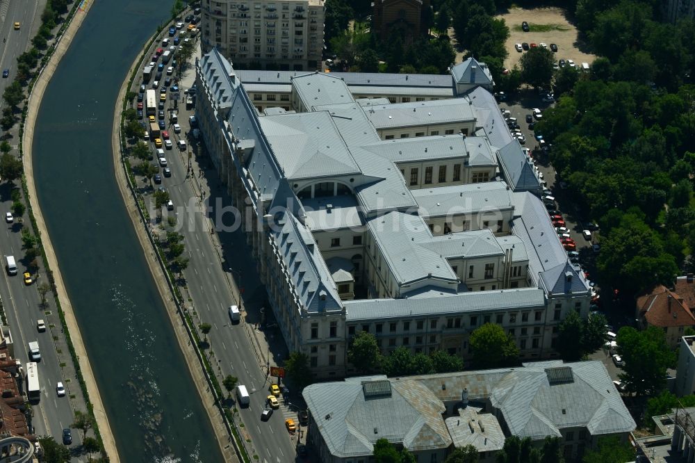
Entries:
[[203,53],[213,48],[239,69],[321,67],[325,0],[202,0]]

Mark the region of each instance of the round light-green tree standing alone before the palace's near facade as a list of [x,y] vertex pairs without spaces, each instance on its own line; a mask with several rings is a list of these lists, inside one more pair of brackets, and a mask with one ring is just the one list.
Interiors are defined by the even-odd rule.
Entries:
[[471,333],[468,339],[477,368],[495,368],[518,364],[519,351],[512,336],[500,325],[486,323]]

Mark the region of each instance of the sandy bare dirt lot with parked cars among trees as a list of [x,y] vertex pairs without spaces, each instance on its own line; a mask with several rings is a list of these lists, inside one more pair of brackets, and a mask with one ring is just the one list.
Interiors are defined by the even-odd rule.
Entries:
[[[518,64],[521,53],[514,49],[514,44],[522,42],[529,44],[545,42],[548,46],[551,43],[557,44],[556,60],[571,59],[578,66],[584,62],[591,64],[595,58],[594,55],[580,51],[586,50],[587,47],[578,41],[577,29],[567,21],[564,10],[560,8],[512,8],[509,13],[499,15],[498,18],[505,19],[509,27],[509,39],[507,39],[509,57],[505,60],[505,67],[508,69]],[[522,21],[528,22],[531,29],[529,32],[521,30]]]

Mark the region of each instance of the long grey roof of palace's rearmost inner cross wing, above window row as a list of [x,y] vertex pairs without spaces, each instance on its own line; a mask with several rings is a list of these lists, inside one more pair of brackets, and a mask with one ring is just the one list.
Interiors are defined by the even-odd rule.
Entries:
[[377,130],[475,120],[471,102],[466,98],[373,105],[364,108],[364,112]]

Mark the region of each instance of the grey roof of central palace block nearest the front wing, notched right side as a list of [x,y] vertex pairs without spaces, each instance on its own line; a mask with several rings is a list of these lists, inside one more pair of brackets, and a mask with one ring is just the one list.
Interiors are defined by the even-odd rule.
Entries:
[[389,264],[395,281],[400,285],[425,279],[456,282],[457,276],[446,259],[420,243],[432,235],[425,220],[402,212],[389,212],[367,222]]

